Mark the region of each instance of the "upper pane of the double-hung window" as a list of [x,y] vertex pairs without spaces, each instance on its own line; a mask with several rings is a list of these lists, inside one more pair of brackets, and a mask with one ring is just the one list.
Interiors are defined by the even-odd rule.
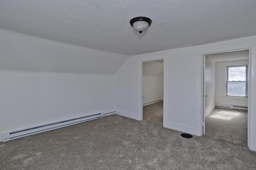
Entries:
[[228,81],[246,81],[246,66],[228,67]]

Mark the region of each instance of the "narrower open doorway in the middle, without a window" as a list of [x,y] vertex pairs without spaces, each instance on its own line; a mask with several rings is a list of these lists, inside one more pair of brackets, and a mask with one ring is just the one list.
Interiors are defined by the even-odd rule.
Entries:
[[163,126],[164,60],[142,63],[142,119]]

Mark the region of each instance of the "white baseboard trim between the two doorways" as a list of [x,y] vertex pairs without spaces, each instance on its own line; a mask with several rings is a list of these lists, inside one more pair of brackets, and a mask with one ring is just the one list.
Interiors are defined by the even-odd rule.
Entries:
[[189,134],[192,134],[192,135],[200,136],[200,134],[195,133],[195,127],[181,125],[181,124],[173,123],[173,122],[170,122],[170,121],[168,121],[166,123],[166,126],[164,126],[164,127],[169,128],[169,129],[174,129],[176,131],[181,131],[181,132],[184,132],[184,133],[189,133]]

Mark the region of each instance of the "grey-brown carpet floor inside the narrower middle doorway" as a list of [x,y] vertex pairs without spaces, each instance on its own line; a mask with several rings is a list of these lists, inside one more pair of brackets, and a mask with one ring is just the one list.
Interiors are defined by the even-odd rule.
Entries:
[[150,122],[154,125],[163,125],[163,104],[158,102],[143,106],[143,121]]

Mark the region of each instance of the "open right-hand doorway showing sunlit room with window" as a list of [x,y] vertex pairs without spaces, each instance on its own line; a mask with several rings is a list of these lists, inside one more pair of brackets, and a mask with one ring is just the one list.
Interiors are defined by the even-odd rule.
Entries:
[[204,135],[248,146],[249,50],[204,55]]

